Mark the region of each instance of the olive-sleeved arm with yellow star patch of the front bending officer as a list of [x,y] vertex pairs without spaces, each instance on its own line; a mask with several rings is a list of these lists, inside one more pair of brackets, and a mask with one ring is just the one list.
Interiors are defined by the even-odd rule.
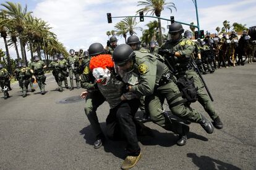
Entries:
[[143,62],[139,65],[139,84],[130,86],[129,90],[140,95],[150,95],[154,92],[156,81],[156,60]]

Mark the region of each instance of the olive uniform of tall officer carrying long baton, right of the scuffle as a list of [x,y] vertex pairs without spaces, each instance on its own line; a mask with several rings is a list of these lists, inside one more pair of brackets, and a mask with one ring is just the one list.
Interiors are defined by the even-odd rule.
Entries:
[[197,75],[194,68],[189,64],[192,57],[192,53],[194,52],[194,45],[190,39],[183,38],[176,43],[171,43],[167,41],[166,44],[163,44],[161,49],[171,49],[174,52],[179,52],[182,57],[177,57],[177,70],[178,70],[178,77],[180,76],[187,76],[187,78],[194,79],[194,84],[198,87],[197,95],[198,95],[198,102],[203,106],[205,111],[207,111],[208,115],[211,119],[215,119],[218,115],[215,113],[213,108],[213,103],[210,100],[210,97],[203,91],[203,83],[202,79]]

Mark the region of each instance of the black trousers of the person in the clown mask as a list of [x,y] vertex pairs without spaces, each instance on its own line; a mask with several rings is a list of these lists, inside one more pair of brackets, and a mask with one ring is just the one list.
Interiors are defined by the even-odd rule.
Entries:
[[109,115],[106,119],[107,136],[112,140],[124,137],[128,143],[127,152],[129,156],[138,156],[140,154],[134,123],[134,115],[139,105],[139,99],[122,101],[115,108],[109,110]]

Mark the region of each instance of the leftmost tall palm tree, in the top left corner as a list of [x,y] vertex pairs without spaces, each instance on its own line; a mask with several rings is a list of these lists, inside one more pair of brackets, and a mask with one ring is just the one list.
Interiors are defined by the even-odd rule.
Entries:
[[17,33],[19,34],[20,39],[20,49],[22,53],[22,60],[23,62],[27,62],[25,59],[25,49],[24,49],[24,43],[23,40],[23,30],[25,27],[25,18],[27,15],[32,14],[32,12],[27,12],[27,5],[22,10],[22,6],[17,3],[13,2],[6,2],[6,4],[1,4],[1,6],[5,7],[6,9],[1,9],[2,12],[4,12],[8,18],[12,20],[12,24],[14,24],[15,30],[17,30]]

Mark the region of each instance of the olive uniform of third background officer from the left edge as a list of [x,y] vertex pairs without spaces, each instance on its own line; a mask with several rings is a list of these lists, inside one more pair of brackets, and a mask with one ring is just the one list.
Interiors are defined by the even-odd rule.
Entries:
[[38,62],[32,62],[30,68],[33,70],[38,86],[40,87],[41,92],[45,92],[45,80],[46,76],[43,70],[45,62],[39,60]]

